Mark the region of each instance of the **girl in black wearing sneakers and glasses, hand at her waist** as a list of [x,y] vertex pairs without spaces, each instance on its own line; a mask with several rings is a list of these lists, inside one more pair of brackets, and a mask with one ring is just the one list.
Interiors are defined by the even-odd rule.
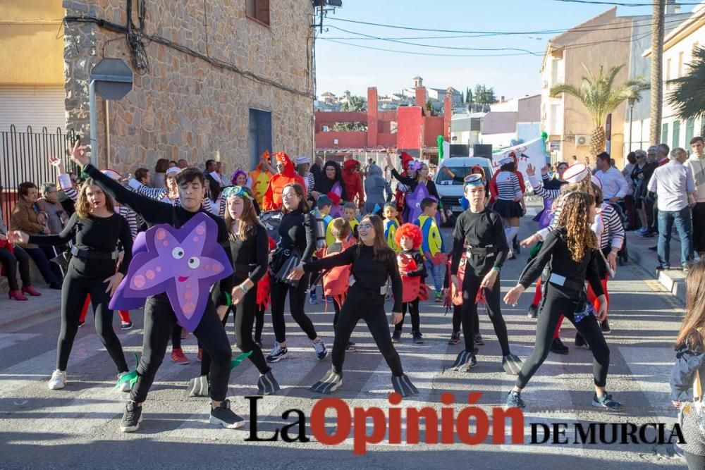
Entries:
[[313,322],[304,311],[309,276],[304,276],[298,283],[285,282],[286,279],[276,280],[276,274],[290,256],[299,256],[300,261],[304,263],[313,256],[316,249],[316,219],[309,213],[306,194],[298,183],[284,186],[281,200],[281,211],[284,214],[278,228],[281,238],[271,264],[271,321],[274,325],[276,342],[266,361],[281,361],[289,355],[286,349],[286,323],[284,322],[284,302],[287,293],[291,316],[313,342],[316,356],[322,360],[328,356],[328,350],[318,337]]

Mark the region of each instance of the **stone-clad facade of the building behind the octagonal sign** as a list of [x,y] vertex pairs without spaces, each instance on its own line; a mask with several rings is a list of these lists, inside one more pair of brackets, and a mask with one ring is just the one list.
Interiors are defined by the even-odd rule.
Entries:
[[[134,1],[133,23],[139,27]],[[204,11],[205,4],[205,11]],[[133,65],[125,35],[94,23],[65,28],[67,127],[88,142],[88,74],[102,57],[122,58],[135,71],[133,89],[109,102],[109,159],[105,101],[97,100],[101,166],[153,169],[159,158],[206,159],[250,169],[249,109],[271,112],[272,150],[312,155],[313,68],[311,1],[269,0],[270,25],[245,14],[245,0],[149,0],[144,18],[149,70]],[[64,0],[67,16],[93,16],[124,26],[126,0]],[[150,38],[152,36],[152,38]],[[259,81],[173,47],[159,37],[252,73]],[[271,84],[274,82],[276,85]]]

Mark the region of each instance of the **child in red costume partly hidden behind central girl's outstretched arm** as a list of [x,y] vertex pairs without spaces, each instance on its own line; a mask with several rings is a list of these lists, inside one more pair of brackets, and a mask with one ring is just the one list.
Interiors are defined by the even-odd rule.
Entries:
[[[332,256],[345,251],[355,245],[357,240],[350,240],[350,223],[344,218],[334,218],[329,224],[333,237],[336,241],[326,249],[325,256]],[[338,326],[338,315],[341,313],[341,306],[345,301],[345,295],[348,293],[350,285],[350,265],[336,266],[331,268],[323,276],[323,292],[326,296],[333,297],[333,309],[336,314],[333,316],[333,330]],[[355,351],[355,343],[348,341],[348,352]]]

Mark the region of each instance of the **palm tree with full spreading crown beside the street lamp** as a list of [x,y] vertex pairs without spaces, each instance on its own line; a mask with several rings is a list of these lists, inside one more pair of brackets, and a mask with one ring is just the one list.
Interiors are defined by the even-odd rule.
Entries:
[[617,106],[627,98],[634,98],[637,101],[641,98],[641,91],[648,88],[642,78],[627,80],[615,85],[615,77],[624,64],[611,68],[606,74],[600,66],[597,75],[594,75],[589,68],[582,65],[586,75],[582,78],[580,87],[565,83],[551,88],[551,97],[558,97],[561,93],[568,93],[582,103],[592,118],[595,129],[590,137],[590,153],[595,156],[605,150],[606,134],[603,123],[607,115],[614,111]]

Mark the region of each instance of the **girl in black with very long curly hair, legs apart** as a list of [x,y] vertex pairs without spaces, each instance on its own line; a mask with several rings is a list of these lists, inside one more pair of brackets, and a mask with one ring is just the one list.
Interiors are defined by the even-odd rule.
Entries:
[[[516,304],[522,292],[539,278],[544,266],[548,265],[544,299],[537,323],[536,346],[524,363],[513,390],[509,392],[508,407],[525,407],[520,394],[548,357],[553,333],[563,315],[587,340],[594,356],[593,406],[611,411],[623,410],[622,404],[612,400],[612,395],[605,392],[610,350],[598,321],[607,315],[607,302],[597,268],[597,262],[601,261],[597,252],[599,246],[594,232],[590,230],[594,220],[594,196],[584,192],[568,194],[558,217],[558,228],[548,234],[541,251],[522,273],[519,283],[504,297],[507,304]],[[597,318],[587,310],[587,295],[584,293],[586,279],[598,296]]]

